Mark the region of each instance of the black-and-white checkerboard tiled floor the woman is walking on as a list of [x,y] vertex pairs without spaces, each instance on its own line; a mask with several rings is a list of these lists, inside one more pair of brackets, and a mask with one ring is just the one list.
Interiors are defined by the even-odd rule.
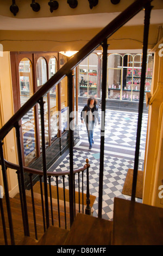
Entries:
[[[82,108],[79,108],[79,113]],[[101,112],[99,111],[99,114]],[[80,114],[79,114],[80,117]],[[137,131],[137,113],[110,111],[106,109],[105,114],[105,148],[104,148],[104,176],[103,176],[103,202],[102,218],[112,220],[114,198],[121,197],[130,199],[129,196],[122,194],[124,181],[129,168],[134,168],[135,143]],[[146,131],[148,115],[143,114],[139,170],[143,170],[145,155]],[[99,185],[99,157],[100,157],[100,126],[96,126],[93,134],[95,144],[89,150],[86,127],[79,120],[80,141],[73,148],[74,169],[82,168],[85,160],[89,159],[89,186],[90,194],[96,196],[93,204],[93,216],[98,216],[98,185]],[[49,170],[56,172],[69,170],[68,150],[53,164]],[[80,177],[80,191],[82,191],[82,176]],[[55,180],[51,179],[55,185]],[[62,180],[59,180],[62,187]],[[68,188],[68,179],[65,179],[65,187]],[[78,175],[75,177],[75,187],[78,191]],[[86,173],[84,176],[84,193],[86,193]],[[142,202],[136,198],[137,202]]]

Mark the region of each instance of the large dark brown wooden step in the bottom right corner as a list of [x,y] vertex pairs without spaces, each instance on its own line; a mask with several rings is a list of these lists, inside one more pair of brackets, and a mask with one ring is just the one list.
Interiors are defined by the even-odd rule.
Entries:
[[115,198],[112,245],[163,245],[163,209]]

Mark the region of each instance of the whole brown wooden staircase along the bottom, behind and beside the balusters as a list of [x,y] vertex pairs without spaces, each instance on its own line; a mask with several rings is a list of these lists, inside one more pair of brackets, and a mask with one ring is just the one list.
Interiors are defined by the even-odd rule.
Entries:
[[[54,225],[50,225],[44,232],[41,200],[36,197],[36,239],[31,198],[27,196],[30,236],[24,236],[19,197],[17,194],[10,200],[16,245],[163,245],[163,209],[121,198],[115,198],[113,221],[77,213],[70,228],[67,212],[67,229],[64,228],[62,205],[60,206],[61,227],[58,227],[58,210],[57,205],[54,204]],[[7,217],[5,205],[4,212]],[[0,222],[0,245],[4,245],[2,230]],[[8,223],[7,233],[9,237]]]

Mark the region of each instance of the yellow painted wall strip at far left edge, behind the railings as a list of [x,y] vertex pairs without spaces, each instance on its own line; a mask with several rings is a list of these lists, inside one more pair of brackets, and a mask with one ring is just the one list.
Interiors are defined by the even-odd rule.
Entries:
[[[1,125],[4,125],[14,114],[9,52],[3,52],[3,56],[0,57],[0,111]],[[3,150],[7,161],[17,163],[14,129],[5,137]],[[12,197],[18,192],[17,174],[15,170],[7,169],[7,176],[9,193]]]

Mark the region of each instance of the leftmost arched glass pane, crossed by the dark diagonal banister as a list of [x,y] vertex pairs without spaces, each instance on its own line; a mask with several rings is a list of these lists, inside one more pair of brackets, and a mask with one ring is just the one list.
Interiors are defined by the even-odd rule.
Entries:
[[[21,106],[33,95],[32,63],[24,58],[19,64],[20,102]],[[36,156],[34,108],[30,109],[22,118],[22,134],[24,159],[26,166]]]

